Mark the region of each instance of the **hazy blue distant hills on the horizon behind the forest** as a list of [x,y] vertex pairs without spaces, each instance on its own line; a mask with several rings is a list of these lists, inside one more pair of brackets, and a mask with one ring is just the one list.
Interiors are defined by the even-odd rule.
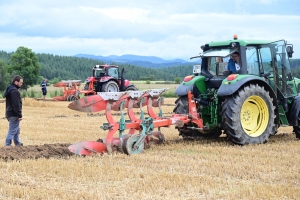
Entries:
[[155,56],[138,56],[126,54],[122,56],[95,56],[90,54],[77,54],[75,57],[78,58],[89,58],[94,60],[103,61],[106,63],[127,63],[131,65],[141,66],[141,67],[151,67],[151,68],[161,68],[161,67],[173,67],[181,66],[182,64],[192,64],[183,59],[174,60],[164,60]]

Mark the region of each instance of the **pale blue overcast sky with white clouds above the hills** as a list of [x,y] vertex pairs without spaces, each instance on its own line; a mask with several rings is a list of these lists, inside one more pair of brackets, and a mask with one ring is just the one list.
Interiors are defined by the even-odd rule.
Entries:
[[300,58],[299,0],[0,0],[0,50],[188,60],[213,40],[285,39]]

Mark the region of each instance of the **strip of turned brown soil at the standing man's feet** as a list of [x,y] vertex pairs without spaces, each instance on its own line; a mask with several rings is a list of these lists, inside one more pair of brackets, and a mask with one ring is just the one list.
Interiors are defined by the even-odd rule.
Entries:
[[71,144],[44,144],[28,146],[10,146],[0,148],[0,159],[20,160],[38,158],[67,158],[73,156],[68,150]]

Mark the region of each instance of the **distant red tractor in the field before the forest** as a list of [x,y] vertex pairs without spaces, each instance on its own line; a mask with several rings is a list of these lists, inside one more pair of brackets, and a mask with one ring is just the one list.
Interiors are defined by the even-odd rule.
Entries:
[[119,66],[116,65],[95,65],[93,74],[86,79],[84,95],[93,95],[97,92],[119,92],[138,90],[129,80],[124,78],[124,68],[119,76]]

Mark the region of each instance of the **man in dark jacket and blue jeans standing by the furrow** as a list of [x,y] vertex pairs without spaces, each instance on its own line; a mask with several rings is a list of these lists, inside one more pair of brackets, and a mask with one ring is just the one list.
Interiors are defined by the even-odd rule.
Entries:
[[4,93],[4,97],[6,98],[5,116],[9,122],[5,146],[11,146],[12,140],[14,140],[15,146],[23,146],[19,137],[20,121],[22,120],[22,98],[19,88],[22,84],[23,78],[16,75]]

